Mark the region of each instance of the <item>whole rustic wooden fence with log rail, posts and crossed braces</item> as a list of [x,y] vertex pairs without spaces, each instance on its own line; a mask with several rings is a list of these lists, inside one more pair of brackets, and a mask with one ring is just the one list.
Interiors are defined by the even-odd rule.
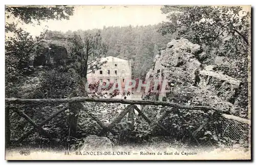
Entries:
[[[221,110],[209,107],[209,106],[187,106],[187,105],[181,105],[176,103],[170,103],[170,102],[162,102],[162,101],[144,101],[144,100],[124,100],[124,99],[99,99],[99,98],[87,98],[87,97],[77,97],[77,98],[66,98],[66,99],[16,99],[16,98],[6,98],[6,105],[10,104],[44,104],[44,103],[52,103],[52,104],[60,104],[60,103],[69,103],[68,106],[61,108],[60,110],[56,111],[52,115],[50,115],[45,121],[37,124],[35,123],[25,112],[22,112],[18,109],[13,109],[15,112],[17,112],[20,116],[24,117],[32,126],[33,128],[29,130],[28,132],[24,133],[22,137],[20,137],[16,142],[20,143],[25,138],[27,138],[30,134],[34,133],[35,131],[38,132],[41,135],[44,135],[48,138],[52,138],[49,133],[42,128],[45,124],[47,124],[49,121],[54,119],[59,113],[70,109],[71,112],[73,112],[72,117],[70,117],[70,135],[76,133],[76,125],[77,125],[77,118],[79,110],[86,111],[94,121],[97,122],[97,124],[104,130],[104,131],[110,131],[113,132],[113,128],[117,123],[121,121],[121,119],[129,113],[129,121],[130,123],[134,123],[134,114],[135,110],[143,117],[143,119],[150,124],[153,128],[156,126],[160,127],[164,131],[168,132],[167,129],[165,129],[160,123],[161,121],[170,113],[170,112],[178,112],[179,109],[186,109],[186,110],[202,110],[202,111],[208,111],[208,110],[214,110],[216,112],[222,113]],[[123,109],[120,114],[113,120],[113,122],[109,125],[104,124],[101,122],[98,117],[86,106],[82,105],[81,102],[100,102],[100,103],[122,103],[122,104],[129,104],[125,109]],[[165,113],[155,122],[151,122],[150,119],[147,118],[147,116],[137,107],[137,105],[155,105],[155,106],[168,106],[172,107],[170,110],[166,110]],[[10,144],[10,114],[9,114],[9,106],[6,106],[6,146]],[[229,119],[233,118],[234,120],[240,120],[243,122],[250,123],[249,120],[242,119],[241,117],[232,116],[232,115],[226,115],[222,114],[224,117],[229,117]],[[193,133],[190,132],[190,134],[194,137]]]

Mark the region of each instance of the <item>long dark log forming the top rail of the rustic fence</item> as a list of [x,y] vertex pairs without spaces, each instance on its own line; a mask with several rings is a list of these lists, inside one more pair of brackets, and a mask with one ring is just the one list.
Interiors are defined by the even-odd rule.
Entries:
[[16,99],[16,98],[6,98],[6,103],[8,104],[28,104],[28,103],[72,103],[72,102],[101,102],[101,103],[122,103],[131,105],[161,105],[169,106],[180,109],[187,110],[216,110],[210,106],[187,106],[177,103],[162,102],[162,101],[150,101],[150,100],[125,100],[125,99],[99,99],[99,98],[87,98],[87,97],[76,97],[76,98],[66,98],[66,99]]

